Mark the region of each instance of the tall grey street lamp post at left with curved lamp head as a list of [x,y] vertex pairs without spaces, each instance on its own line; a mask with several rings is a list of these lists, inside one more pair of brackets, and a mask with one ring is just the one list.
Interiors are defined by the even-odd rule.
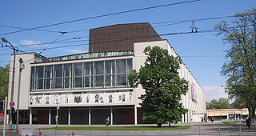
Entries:
[[[6,43],[8,43],[10,46],[10,48],[14,51],[14,63],[13,63],[13,77],[12,77],[12,82],[11,82],[11,91],[10,91],[10,102],[13,102],[14,101],[14,74],[15,74],[15,57],[16,57],[16,52],[18,52],[18,49],[15,49],[14,48],[14,46],[10,43],[10,42],[8,42],[7,40],[6,40],[6,38],[1,38],[1,40],[2,40],[2,42],[6,42]],[[8,45],[6,44],[6,47],[7,47]],[[3,46],[2,46],[3,47]],[[9,112],[9,114],[10,114],[10,124],[12,124],[12,108],[10,107],[10,112]]]

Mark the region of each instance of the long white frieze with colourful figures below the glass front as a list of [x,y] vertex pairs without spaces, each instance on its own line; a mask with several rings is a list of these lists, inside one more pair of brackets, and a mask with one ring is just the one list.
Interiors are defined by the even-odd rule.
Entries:
[[133,92],[30,95],[30,106],[66,106],[133,102]]

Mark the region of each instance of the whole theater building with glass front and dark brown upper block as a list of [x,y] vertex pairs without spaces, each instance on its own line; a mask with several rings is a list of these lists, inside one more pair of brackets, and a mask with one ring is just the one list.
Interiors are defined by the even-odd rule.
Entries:
[[[54,58],[16,54],[13,99],[15,110],[19,104],[19,123],[55,124],[57,113],[58,124],[66,125],[105,124],[107,117],[111,125],[146,123],[138,112],[138,97],[145,90],[130,88],[127,77],[145,62],[146,46],[160,46],[176,56],[172,46],[149,23],[91,29],[89,40],[89,51],[83,54]],[[10,70],[12,67],[10,63]],[[188,93],[182,95],[182,105],[188,109],[182,122],[197,122],[206,114],[206,94],[185,64],[179,75],[189,81]],[[11,77],[10,71],[10,86]],[[11,87],[9,102],[10,95]]]

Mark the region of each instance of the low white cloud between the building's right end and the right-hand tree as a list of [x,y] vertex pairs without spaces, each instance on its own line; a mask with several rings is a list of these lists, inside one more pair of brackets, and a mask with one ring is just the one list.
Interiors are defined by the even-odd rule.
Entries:
[[213,99],[228,98],[228,94],[225,93],[224,86],[202,86],[206,91],[206,102],[210,102]]

